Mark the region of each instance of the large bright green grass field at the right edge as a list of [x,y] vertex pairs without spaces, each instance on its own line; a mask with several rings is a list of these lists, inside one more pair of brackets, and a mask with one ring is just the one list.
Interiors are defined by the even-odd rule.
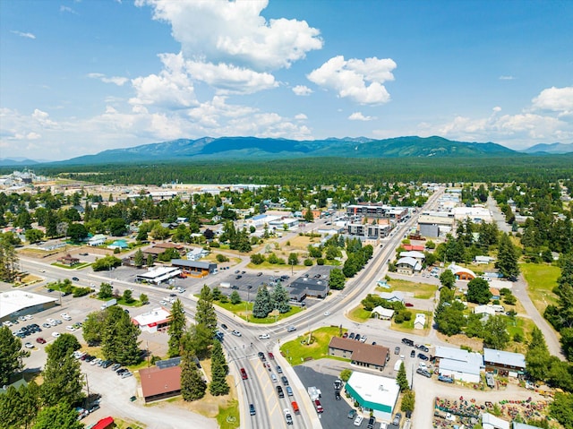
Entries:
[[527,294],[539,313],[543,314],[547,305],[556,305],[557,296],[552,290],[557,286],[560,268],[544,263],[522,263],[519,267],[526,278]]

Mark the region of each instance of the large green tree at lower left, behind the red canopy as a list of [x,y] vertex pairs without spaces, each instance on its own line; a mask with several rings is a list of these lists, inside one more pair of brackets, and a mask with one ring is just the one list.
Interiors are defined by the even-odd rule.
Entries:
[[48,407],[58,404],[71,407],[82,398],[81,361],[73,357],[77,346],[79,344],[73,335],[63,334],[46,347],[47,361],[42,373],[44,382],[41,386],[41,397]]

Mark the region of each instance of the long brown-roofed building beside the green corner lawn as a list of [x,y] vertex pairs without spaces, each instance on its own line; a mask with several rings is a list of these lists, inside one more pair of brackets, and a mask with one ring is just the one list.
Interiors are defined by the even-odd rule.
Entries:
[[389,361],[389,348],[365,344],[355,339],[332,337],[329,343],[329,356],[346,357],[354,365],[382,371]]

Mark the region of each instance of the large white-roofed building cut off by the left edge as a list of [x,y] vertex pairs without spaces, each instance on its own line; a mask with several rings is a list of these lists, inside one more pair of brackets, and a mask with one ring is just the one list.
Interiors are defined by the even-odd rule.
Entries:
[[58,298],[23,290],[0,293],[0,322],[11,321],[26,314],[39,313],[56,306]]

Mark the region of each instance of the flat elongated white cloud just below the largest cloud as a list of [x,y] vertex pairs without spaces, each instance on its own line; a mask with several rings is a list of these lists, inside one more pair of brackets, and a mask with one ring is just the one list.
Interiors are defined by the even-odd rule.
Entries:
[[231,64],[187,61],[186,69],[192,78],[208,83],[216,88],[219,94],[250,94],[278,86],[272,74],[257,73]]

